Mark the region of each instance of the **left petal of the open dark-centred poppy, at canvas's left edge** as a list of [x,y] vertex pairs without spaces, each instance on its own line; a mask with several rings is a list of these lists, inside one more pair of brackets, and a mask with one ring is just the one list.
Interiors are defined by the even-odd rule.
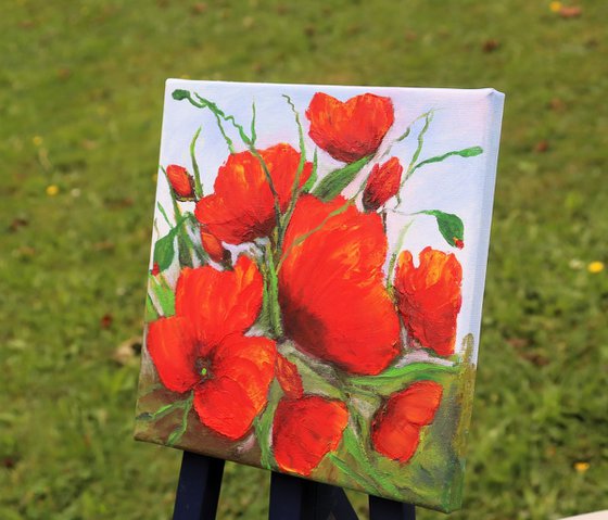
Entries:
[[194,369],[197,341],[187,319],[160,318],[148,326],[145,344],[163,384],[174,392],[187,392],[200,380]]

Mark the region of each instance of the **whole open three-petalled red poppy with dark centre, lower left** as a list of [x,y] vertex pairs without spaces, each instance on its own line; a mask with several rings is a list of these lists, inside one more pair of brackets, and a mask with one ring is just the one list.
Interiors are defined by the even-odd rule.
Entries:
[[177,281],[175,316],[148,329],[148,352],[163,384],[194,391],[201,422],[230,440],[250,430],[275,377],[275,342],[243,335],[257,318],[262,292],[262,276],[246,256],[232,271],[186,268]]

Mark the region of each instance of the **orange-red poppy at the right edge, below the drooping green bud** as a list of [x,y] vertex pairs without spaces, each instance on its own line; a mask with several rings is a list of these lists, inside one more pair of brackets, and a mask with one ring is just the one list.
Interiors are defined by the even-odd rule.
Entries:
[[426,248],[418,267],[409,251],[400,255],[394,288],[403,322],[413,339],[440,356],[454,354],[461,282],[463,267],[453,254]]

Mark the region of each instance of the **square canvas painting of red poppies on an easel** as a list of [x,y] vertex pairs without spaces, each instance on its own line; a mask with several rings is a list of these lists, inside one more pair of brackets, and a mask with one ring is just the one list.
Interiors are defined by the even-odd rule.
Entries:
[[502,107],[168,80],[136,437],[457,509]]

